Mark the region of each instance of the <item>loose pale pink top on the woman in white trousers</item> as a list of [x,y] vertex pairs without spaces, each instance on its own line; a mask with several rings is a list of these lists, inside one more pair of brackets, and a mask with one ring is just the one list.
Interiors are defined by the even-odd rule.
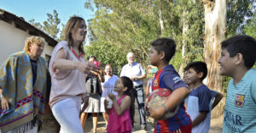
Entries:
[[66,41],[59,42],[52,53],[49,62],[49,74],[51,75],[51,90],[49,94],[49,106],[67,98],[85,94],[85,75],[77,69],[60,71],[53,68],[56,53],[63,48],[66,58],[73,61],[84,61],[84,56],[77,58]]

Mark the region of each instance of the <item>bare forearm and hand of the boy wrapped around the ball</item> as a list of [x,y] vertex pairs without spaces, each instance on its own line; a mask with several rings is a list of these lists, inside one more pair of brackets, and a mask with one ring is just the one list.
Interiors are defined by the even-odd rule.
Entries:
[[188,95],[188,88],[177,88],[176,90],[172,91],[172,94],[169,97],[167,97],[166,103],[163,104],[164,106],[161,106],[160,108],[148,108],[150,117],[154,119],[160,119],[160,117],[166,113],[166,109],[172,110],[173,108],[177,107],[177,105],[182,103],[185,97],[187,97]]

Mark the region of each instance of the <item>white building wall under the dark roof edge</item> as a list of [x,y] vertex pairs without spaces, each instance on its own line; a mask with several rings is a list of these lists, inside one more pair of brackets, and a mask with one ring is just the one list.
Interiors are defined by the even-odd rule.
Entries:
[[[14,23],[10,25],[0,20],[0,66],[2,66],[3,62],[10,54],[23,50],[26,38],[29,36],[31,35],[29,35],[27,31],[16,28]],[[42,57],[45,58],[45,54],[50,56],[53,48],[54,47],[50,47],[46,42]]]

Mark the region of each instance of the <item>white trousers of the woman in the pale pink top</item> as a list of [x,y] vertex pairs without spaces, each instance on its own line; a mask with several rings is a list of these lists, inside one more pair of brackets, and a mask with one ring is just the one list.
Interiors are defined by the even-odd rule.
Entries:
[[61,125],[60,133],[83,133],[79,114],[82,97],[68,97],[51,108],[55,119]]

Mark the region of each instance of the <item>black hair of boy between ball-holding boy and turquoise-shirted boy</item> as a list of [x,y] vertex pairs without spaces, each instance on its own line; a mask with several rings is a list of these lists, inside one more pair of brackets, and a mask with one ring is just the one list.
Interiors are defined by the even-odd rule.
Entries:
[[185,71],[189,70],[190,68],[194,69],[197,74],[201,72],[203,73],[201,80],[204,80],[207,77],[208,71],[207,71],[207,64],[205,62],[201,62],[201,61],[192,62],[187,65],[187,67],[185,68]]

